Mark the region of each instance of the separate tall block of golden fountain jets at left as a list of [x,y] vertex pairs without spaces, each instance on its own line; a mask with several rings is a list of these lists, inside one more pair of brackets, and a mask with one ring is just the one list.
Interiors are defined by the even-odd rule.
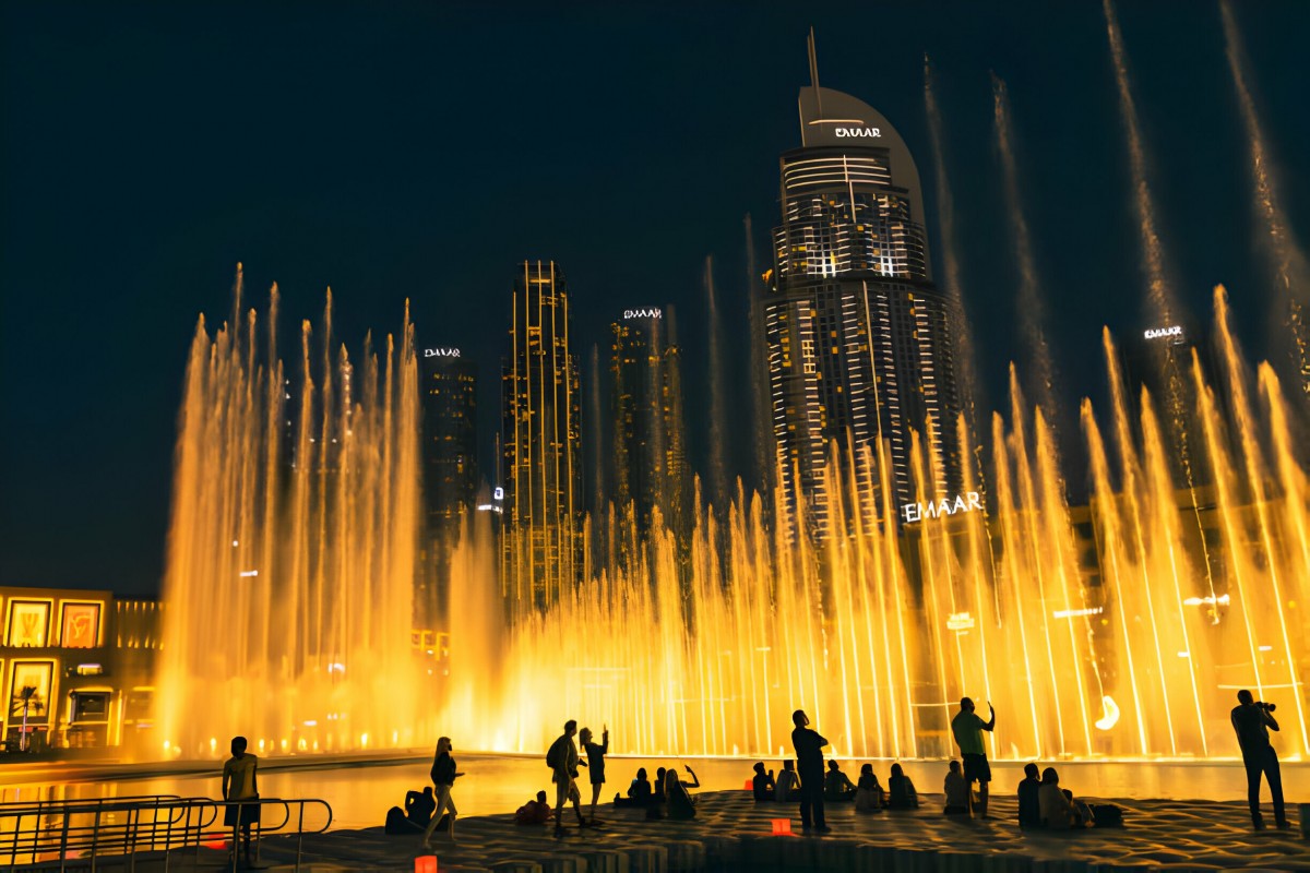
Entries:
[[299,359],[241,312],[196,327],[168,543],[157,734],[166,754],[411,745],[418,385],[410,327],[363,365],[331,296]]

